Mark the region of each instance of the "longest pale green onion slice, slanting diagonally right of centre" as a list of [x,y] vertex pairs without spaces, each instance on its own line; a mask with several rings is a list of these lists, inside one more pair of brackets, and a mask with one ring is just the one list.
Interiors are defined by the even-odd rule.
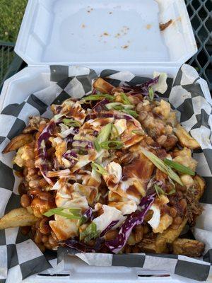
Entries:
[[147,151],[143,147],[141,148],[141,152],[163,173],[167,174],[172,180],[177,182],[179,185],[183,186],[182,180],[180,180],[179,176],[177,173],[172,171],[172,168],[167,166],[158,156],[155,156],[150,151]]

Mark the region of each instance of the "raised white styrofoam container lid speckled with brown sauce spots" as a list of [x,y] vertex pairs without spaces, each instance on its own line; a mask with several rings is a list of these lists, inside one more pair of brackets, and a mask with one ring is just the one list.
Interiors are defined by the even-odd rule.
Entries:
[[196,42],[184,0],[30,0],[15,51],[29,65],[180,66]]

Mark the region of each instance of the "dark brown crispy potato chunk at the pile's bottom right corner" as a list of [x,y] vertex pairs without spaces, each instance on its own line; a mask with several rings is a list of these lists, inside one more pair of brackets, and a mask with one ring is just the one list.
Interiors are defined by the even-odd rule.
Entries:
[[173,253],[187,255],[192,258],[200,257],[205,249],[205,244],[196,240],[178,238],[172,244]]

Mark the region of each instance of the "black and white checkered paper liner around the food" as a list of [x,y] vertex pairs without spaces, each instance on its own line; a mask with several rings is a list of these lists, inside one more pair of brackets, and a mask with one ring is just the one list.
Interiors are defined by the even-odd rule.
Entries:
[[[97,78],[95,71],[84,67],[51,66],[51,83],[48,88],[32,93],[21,104],[6,105],[0,115],[0,216],[11,209],[20,207],[18,185],[20,179],[16,175],[12,158],[13,152],[1,154],[6,144],[22,132],[30,115],[51,117],[49,105],[61,103],[66,98],[82,97],[91,92],[93,80]],[[125,81],[136,85],[148,78],[134,76],[129,71],[104,70],[100,74],[114,86]],[[43,254],[39,248],[20,233],[20,229],[12,228],[0,231],[0,282],[20,282],[30,275],[49,270],[59,272],[63,268],[66,253],[76,256],[96,266],[143,267],[148,270],[163,270],[170,274],[181,275],[191,279],[204,281],[208,278],[212,262],[212,145],[211,105],[204,98],[199,84],[199,76],[192,67],[184,64],[173,80],[167,79],[167,91],[163,94],[178,111],[179,120],[201,144],[201,150],[194,151],[194,158],[199,161],[197,173],[207,183],[206,192],[201,199],[204,213],[194,229],[194,235],[206,243],[206,254],[201,259],[188,258],[182,255],[128,254],[112,255],[102,253],[76,253],[72,249],[59,248],[58,253],[47,251]],[[160,95],[160,93],[158,93]],[[160,260],[159,260],[160,258]]]

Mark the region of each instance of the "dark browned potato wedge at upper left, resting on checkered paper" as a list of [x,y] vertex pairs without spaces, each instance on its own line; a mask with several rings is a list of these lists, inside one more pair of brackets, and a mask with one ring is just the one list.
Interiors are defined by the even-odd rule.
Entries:
[[7,154],[10,151],[16,151],[16,149],[19,149],[25,144],[29,144],[31,141],[33,141],[33,134],[18,134],[17,137],[11,139],[2,153]]

